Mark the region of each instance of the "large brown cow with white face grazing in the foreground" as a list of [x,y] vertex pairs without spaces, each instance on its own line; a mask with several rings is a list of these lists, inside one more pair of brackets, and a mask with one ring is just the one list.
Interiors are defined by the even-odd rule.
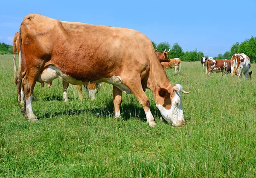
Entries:
[[112,84],[115,117],[120,117],[122,92],[133,93],[143,106],[147,123],[155,126],[144,92],[148,88],[167,122],[174,126],[185,124],[181,92],[189,92],[170,83],[151,40],[138,31],[28,14],[20,25],[20,48],[26,57],[26,71],[22,73],[20,62],[17,95],[23,88],[26,104],[22,111],[29,121],[38,121],[31,95],[40,71],[49,68],[55,71],[53,78],[58,76],[67,83]]

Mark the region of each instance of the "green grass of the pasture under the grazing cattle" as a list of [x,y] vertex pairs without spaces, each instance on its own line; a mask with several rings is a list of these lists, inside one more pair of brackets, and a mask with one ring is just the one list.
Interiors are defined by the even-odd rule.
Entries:
[[[62,101],[61,80],[35,86],[39,122],[23,118],[16,101],[12,55],[0,55],[0,177],[254,177],[256,79],[205,75],[200,62],[182,62],[180,83],[186,126],[146,124],[142,106],[123,94],[122,118],[113,117],[112,86],[80,101],[76,86]],[[251,70],[256,72],[256,64]],[[97,115],[99,113],[99,115]]]

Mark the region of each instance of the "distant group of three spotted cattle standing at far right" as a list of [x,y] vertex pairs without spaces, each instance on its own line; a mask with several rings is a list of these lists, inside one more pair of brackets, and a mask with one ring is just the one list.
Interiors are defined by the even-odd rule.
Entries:
[[235,54],[231,57],[230,60],[218,59],[214,60],[212,57],[201,57],[201,64],[206,66],[206,74],[212,72],[222,72],[227,75],[231,73],[232,76],[238,75],[239,78],[242,78],[244,74],[245,78],[251,78],[253,72],[250,71],[250,58],[244,53]]

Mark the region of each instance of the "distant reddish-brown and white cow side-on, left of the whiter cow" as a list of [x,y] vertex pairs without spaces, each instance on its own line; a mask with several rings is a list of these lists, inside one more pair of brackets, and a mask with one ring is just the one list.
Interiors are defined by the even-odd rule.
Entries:
[[206,71],[205,74],[210,75],[211,72],[222,72],[225,75],[231,72],[231,60],[225,59],[208,59],[206,62]]

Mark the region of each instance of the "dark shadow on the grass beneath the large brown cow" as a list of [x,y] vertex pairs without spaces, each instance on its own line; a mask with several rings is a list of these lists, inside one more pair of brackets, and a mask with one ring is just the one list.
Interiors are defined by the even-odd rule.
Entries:
[[[49,97],[48,97],[49,98]],[[45,98],[44,98],[45,99]],[[52,97],[49,100],[62,100],[61,97]],[[85,106],[86,107],[86,106]],[[150,106],[150,110],[153,115],[159,114],[158,111],[153,107]],[[141,121],[146,121],[145,112],[142,106],[140,104],[136,103],[134,101],[133,103],[122,103],[122,106],[120,107],[121,112],[121,118],[125,121],[130,120],[131,118],[139,118]],[[61,115],[68,115],[68,116],[74,116],[74,115],[83,115],[85,113],[90,113],[91,115],[98,115],[99,117],[105,117],[111,115],[114,117],[114,105],[113,101],[106,102],[104,106],[97,106],[96,108],[83,108],[81,106],[81,109],[62,109],[58,112],[45,112],[43,115],[39,116],[38,119],[42,118],[51,118],[51,117],[58,117]],[[36,113],[35,113],[36,114]]]

